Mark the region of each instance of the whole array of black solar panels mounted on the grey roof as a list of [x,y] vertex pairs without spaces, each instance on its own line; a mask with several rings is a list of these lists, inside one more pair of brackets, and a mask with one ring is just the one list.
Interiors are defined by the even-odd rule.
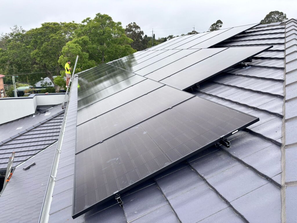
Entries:
[[253,26],[176,37],[79,73],[73,218],[259,120],[181,90],[268,49],[201,47]]

